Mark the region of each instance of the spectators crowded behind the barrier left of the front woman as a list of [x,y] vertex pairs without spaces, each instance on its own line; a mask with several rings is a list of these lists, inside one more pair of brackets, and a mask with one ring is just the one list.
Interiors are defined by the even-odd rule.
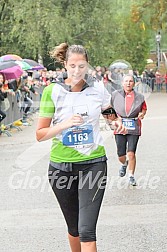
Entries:
[[[44,71],[26,72],[18,79],[5,80],[5,76],[0,73],[0,122],[2,122],[10,113],[13,113],[11,107],[11,97],[17,103],[17,110],[22,112],[21,117],[14,118],[14,120],[21,119],[26,125],[26,118],[34,106],[38,107],[39,104],[34,104],[34,95],[38,96],[38,101],[42,94],[43,88],[50,84],[50,78],[47,77],[48,73]],[[34,105],[33,105],[34,104]],[[13,117],[12,117],[13,118]],[[7,120],[6,124],[10,125],[13,121]]]

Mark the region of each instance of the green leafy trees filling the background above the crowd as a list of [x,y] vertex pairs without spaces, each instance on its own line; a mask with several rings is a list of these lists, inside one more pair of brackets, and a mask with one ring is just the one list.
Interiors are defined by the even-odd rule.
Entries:
[[0,54],[36,60],[41,56],[49,68],[55,66],[49,51],[68,42],[84,45],[92,66],[109,66],[114,60],[124,59],[142,71],[153,45],[153,27],[166,25],[165,0],[1,2]]

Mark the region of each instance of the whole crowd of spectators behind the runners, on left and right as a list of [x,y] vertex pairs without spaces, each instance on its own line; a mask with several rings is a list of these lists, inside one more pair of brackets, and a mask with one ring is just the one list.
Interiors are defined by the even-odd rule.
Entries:
[[[130,70],[134,76],[136,90],[139,91],[138,83],[142,86],[142,92],[161,92],[163,86],[167,92],[167,73],[161,74],[160,71],[146,69],[140,75],[137,70]],[[124,69],[109,69],[107,67],[96,66],[89,69],[88,73],[98,81],[102,81],[108,92],[111,94],[114,90],[121,87]],[[8,97],[16,96],[18,109],[23,111],[23,123],[26,123],[26,117],[30,109],[33,107],[32,94],[41,98],[43,88],[48,86],[52,81],[64,78],[66,70],[64,67],[52,70],[39,70],[34,72],[23,72],[23,75],[16,80],[5,80],[5,76],[0,74],[0,122],[2,122],[6,114],[10,112],[10,104]],[[21,104],[21,106],[20,106]],[[37,106],[37,104],[36,104]],[[15,118],[17,120],[17,118]],[[12,122],[7,122],[12,123]]]

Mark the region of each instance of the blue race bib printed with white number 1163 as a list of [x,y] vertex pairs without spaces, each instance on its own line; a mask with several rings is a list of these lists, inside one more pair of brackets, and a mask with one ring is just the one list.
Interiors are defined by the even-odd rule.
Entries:
[[64,145],[75,148],[83,148],[93,143],[92,125],[76,126],[62,132]]

